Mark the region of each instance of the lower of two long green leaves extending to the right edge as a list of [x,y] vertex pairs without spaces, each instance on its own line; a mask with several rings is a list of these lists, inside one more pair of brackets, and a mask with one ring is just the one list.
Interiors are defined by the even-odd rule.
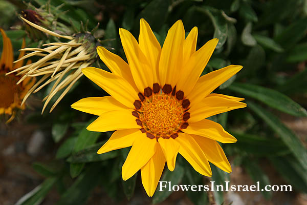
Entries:
[[297,160],[301,163],[304,169],[307,169],[307,151],[302,145],[302,142],[297,138],[293,132],[284,126],[282,122],[273,114],[266,111],[264,108],[247,102],[248,107],[253,110],[259,117],[261,117],[282,139],[284,144],[289,147]]

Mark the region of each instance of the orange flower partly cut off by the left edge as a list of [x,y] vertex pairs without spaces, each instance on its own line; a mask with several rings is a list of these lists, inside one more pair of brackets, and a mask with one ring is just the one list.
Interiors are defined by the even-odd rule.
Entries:
[[[13,65],[13,48],[10,38],[6,35],[3,29],[0,28],[3,39],[3,50],[0,60],[0,114],[8,114],[11,117],[7,120],[10,122],[16,115],[16,109],[25,109],[25,105],[21,106],[21,100],[25,97],[28,90],[34,84],[34,79],[25,80],[22,84],[16,85],[20,77],[14,75],[5,75],[16,68],[23,65],[23,60]],[[25,40],[23,46],[25,47]],[[19,58],[23,57],[24,51],[20,52]]]

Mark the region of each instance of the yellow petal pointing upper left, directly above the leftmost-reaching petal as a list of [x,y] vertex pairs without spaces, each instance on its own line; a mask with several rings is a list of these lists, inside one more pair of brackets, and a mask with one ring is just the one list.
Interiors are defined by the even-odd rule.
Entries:
[[128,108],[134,108],[138,92],[124,78],[98,68],[83,68],[83,74]]

